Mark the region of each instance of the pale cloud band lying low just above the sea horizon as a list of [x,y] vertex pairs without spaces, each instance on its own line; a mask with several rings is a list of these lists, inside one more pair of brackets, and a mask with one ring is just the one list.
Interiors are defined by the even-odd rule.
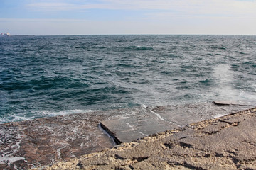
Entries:
[[[228,19],[228,20],[227,20]],[[227,22],[228,21],[228,22]],[[256,35],[256,23],[242,18],[186,20],[169,22],[89,21],[78,19],[1,19],[0,25],[12,35],[87,35],[87,34],[226,34]]]

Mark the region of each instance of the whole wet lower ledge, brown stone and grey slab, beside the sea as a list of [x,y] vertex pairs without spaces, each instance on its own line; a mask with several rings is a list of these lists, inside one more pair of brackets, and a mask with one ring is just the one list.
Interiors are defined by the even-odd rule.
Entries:
[[0,169],[31,169],[113,147],[100,122],[117,142],[130,142],[246,108],[213,103],[142,106],[6,123],[0,125]]

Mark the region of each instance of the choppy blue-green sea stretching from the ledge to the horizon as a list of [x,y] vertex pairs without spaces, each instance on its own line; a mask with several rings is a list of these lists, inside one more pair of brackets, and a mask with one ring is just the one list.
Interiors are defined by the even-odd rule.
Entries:
[[256,101],[256,36],[0,38],[0,123],[136,106]]

